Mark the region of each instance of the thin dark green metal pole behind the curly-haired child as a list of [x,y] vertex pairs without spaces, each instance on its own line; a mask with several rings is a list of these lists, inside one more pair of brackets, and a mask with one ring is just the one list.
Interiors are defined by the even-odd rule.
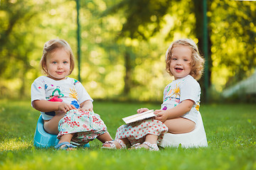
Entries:
[[203,54],[205,57],[204,83],[206,89],[206,102],[209,99],[209,75],[208,75],[208,21],[207,21],[207,0],[203,0]]

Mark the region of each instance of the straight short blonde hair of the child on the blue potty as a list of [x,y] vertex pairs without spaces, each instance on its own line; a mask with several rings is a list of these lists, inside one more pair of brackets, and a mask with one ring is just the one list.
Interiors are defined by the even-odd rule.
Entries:
[[62,49],[62,48],[66,50],[70,55],[70,73],[69,74],[73,72],[75,68],[75,60],[74,60],[74,55],[70,45],[65,40],[53,39],[46,42],[46,44],[43,46],[43,56],[41,58],[40,64],[44,74],[48,74],[48,71],[46,69],[46,57],[50,55],[52,52],[54,52],[55,50]]

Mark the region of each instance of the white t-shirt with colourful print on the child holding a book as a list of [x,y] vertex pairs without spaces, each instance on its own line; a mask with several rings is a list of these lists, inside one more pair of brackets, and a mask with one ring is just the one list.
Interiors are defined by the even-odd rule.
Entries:
[[164,102],[161,104],[161,109],[166,110],[174,108],[181,101],[190,99],[194,101],[191,111],[182,115],[183,118],[188,118],[193,122],[197,122],[199,113],[201,88],[198,81],[188,75],[181,79],[176,79],[166,86],[164,89]]

